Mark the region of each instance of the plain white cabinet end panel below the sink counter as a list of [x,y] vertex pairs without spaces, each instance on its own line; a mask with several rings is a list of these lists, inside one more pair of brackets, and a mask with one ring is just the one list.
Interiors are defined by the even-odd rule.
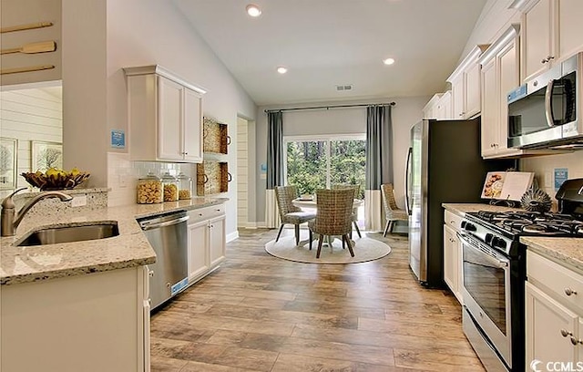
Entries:
[[0,369],[148,372],[146,266],[2,286]]

